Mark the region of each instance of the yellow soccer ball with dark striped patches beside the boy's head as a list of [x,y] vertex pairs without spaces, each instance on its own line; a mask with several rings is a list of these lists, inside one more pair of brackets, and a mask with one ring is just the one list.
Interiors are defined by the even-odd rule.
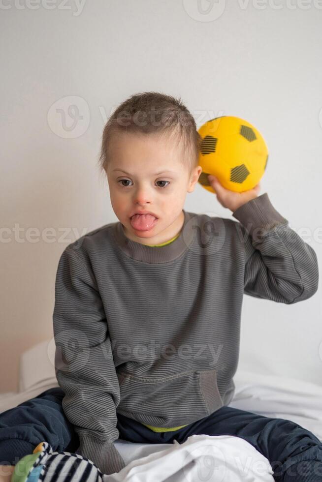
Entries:
[[265,172],[268,150],[254,125],[239,117],[222,116],[205,122],[198,130],[200,143],[198,182],[215,192],[208,181],[213,174],[231,191],[253,189]]

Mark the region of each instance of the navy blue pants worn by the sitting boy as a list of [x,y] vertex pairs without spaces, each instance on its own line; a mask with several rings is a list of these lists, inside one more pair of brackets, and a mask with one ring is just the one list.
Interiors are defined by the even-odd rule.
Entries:
[[[62,408],[64,392],[52,388],[0,414],[0,465],[15,465],[40,442],[53,451],[76,452],[79,439]],[[134,443],[180,444],[190,435],[235,435],[253,445],[270,462],[278,482],[322,481],[322,442],[286,419],[264,417],[232,407],[171,432],[153,432],[117,414],[120,439]]]

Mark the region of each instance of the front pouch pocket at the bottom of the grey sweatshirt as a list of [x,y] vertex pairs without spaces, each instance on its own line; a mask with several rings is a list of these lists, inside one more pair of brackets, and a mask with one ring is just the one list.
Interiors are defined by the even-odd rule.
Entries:
[[217,370],[191,370],[165,377],[118,372],[121,399],[117,412],[138,422],[174,427],[210,415],[223,406]]

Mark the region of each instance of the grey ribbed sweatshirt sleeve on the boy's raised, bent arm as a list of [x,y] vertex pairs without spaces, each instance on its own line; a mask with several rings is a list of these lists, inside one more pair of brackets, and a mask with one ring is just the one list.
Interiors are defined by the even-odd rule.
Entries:
[[245,242],[244,293],[286,304],[316,293],[316,252],[290,228],[267,193],[240,206],[232,215],[240,222]]

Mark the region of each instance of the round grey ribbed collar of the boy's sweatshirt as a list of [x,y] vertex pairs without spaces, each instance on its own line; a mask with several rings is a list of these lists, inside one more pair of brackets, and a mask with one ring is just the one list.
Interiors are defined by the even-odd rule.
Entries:
[[118,221],[113,225],[113,235],[117,245],[130,258],[145,263],[167,263],[178,258],[183,254],[191,242],[195,230],[192,222],[188,222],[194,216],[194,213],[183,210],[185,220],[179,236],[169,244],[164,246],[148,246],[136,241],[130,240],[124,232],[123,224]]

